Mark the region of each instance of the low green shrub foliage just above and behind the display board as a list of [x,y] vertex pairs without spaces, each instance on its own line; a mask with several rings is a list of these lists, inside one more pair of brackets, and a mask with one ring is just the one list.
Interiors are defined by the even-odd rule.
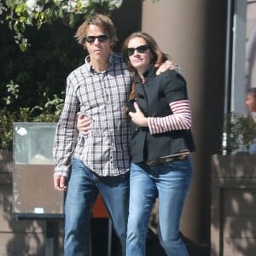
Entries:
[[19,100],[20,86],[11,81],[7,84],[9,96],[4,97],[6,107],[0,109],[0,149],[10,150],[13,144],[13,122],[57,122],[61,114],[63,99],[54,95],[53,98],[44,93],[43,106],[18,108],[10,111],[9,106]]

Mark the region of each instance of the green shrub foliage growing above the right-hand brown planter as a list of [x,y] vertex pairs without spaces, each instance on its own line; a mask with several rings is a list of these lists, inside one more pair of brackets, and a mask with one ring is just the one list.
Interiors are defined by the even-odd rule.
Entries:
[[224,116],[223,147],[225,154],[248,151],[253,138],[256,137],[256,123],[251,116],[227,113]]

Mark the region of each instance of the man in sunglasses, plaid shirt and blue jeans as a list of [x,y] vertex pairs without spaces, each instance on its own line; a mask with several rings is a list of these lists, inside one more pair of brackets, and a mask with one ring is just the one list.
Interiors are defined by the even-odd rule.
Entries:
[[[54,186],[67,190],[64,255],[87,255],[86,226],[98,194],[125,255],[130,124],[123,108],[131,90],[131,73],[122,57],[112,53],[116,35],[107,16],[95,15],[85,20],[75,37],[89,55],[84,65],[67,77],[54,144]],[[78,113],[82,113],[79,119],[90,117],[84,119],[87,123],[80,133],[76,129]]]

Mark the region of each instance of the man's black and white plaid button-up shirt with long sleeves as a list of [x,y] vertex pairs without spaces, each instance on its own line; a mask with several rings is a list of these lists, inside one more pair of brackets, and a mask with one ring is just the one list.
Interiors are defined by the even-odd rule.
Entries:
[[[99,176],[129,171],[130,119],[124,107],[130,90],[131,73],[117,55],[110,55],[104,73],[97,73],[87,57],[84,65],[69,74],[55,133],[55,176],[67,176],[73,158]],[[78,134],[78,112],[92,119],[89,135]]]

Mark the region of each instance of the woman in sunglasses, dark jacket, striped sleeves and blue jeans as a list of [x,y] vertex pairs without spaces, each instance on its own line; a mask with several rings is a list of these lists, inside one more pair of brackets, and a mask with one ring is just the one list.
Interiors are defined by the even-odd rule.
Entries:
[[192,179],[189,153],[195,150],[186,82],[172,70],[155,75],[154,65],[166,61],[167,55],[147,33],[132,33],[125,40],[123,55],[134,72],[127,106],[132,120],[132,160],[126,256],[145,255],[156,198],[160,243],[166,254],[189,255],[179,236]]

